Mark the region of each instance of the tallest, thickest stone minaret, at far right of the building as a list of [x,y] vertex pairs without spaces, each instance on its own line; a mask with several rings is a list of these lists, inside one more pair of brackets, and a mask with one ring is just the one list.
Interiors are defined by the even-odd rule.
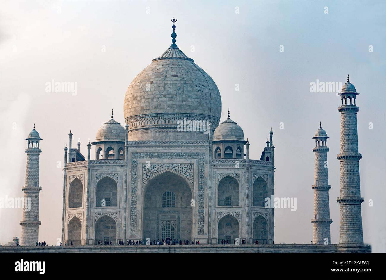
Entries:
[[342,86],[340,112],[340,188],[339,197],[339,244],[363,244],[361,204],[361,183],[359,181],[357,111],[356,96],[359,93],[347,75],[347,83]]

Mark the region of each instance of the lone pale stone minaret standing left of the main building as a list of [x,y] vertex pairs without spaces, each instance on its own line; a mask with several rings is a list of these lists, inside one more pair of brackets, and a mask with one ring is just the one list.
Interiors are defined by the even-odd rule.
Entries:
[[[35,246],[39,241],[39,192],[42,188],[39,186],[39,155],[42,150],[39,148],[39,142],[42,140],[39,133],[34,129],[29,133],[27,153],[27,165],[25,168],[24,191],[24,209],[22,226],[22,236],[20,238],[21,246]],[[29,209],[29,211],[27,211]]]

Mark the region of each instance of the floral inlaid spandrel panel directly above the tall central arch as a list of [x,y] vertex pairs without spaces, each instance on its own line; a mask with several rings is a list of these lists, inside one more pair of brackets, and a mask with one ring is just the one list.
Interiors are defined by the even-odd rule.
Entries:
[[160,171],[171,169],[178,172],[181,175],[184,175],[193,185],[193,167],[194,164],[143,164],[142,165],[142,186],[144,186],[147,179],[152,175],[157,174]]

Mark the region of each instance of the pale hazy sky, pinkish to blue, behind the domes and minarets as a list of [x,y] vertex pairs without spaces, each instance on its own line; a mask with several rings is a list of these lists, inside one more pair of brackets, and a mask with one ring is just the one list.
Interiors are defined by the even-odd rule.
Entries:
[[[23,196],[24,138],[36,123],[43,138],[39,240],[56,244],[63,194],[58,161],[63,166],[70,128],[85,152],[111,108],[124,123],[127,86],[170,46],[170,19],[176,17],[179,48],[216,82],[222,121],[230,107],[249,138],[251,159],[260,159],[272,126],[275,196],[297,197],[297,211],[275,210],[276,244],[312,240],[312,137],[319,121],[330,136],[331,238],[339,241],[340,98],[312,93],[310,83],[345,83],[350,74],[361,93],[364,242],[373,252],[386,252],[385,11],[384,1],[2,1],[0,197]],[[77,94],[47,93],[52,79],[76,82]],[[21,218],[22,209],[0,209],[0,243],[20,237]]]

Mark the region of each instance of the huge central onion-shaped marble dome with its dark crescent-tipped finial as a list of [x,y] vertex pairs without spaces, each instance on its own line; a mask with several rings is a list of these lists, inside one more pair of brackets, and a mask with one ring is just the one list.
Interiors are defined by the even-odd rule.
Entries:
[[213,128],[220,121],[220,92],[213,79],[176,45],[176,20],[172,22],[171,46],[135,76],[126,91],[129,140],[208,140],[202,131],[177,131],[177,121],[203,120]]

